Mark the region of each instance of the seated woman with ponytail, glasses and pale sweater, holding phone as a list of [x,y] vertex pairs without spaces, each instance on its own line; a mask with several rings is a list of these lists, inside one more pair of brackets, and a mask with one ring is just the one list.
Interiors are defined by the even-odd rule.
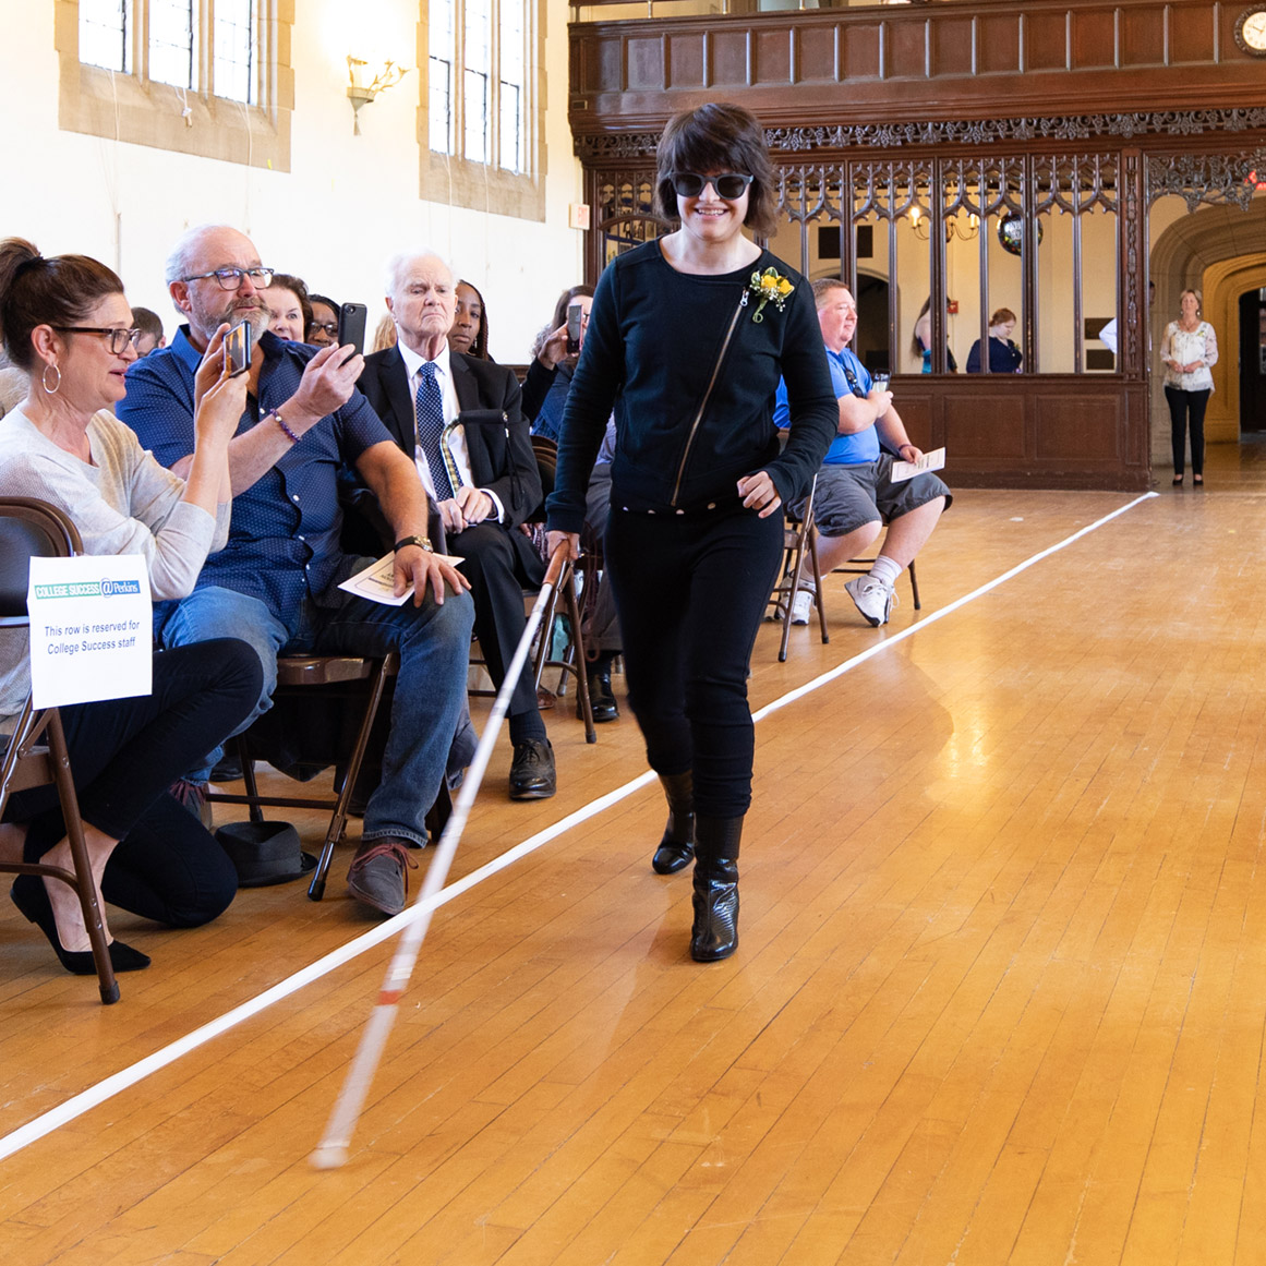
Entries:
[[[46,260],[29,242],[0,242],[0,335],[13,363],[29,375],[27,399],[0,419],[0,495],[37,498],[65,511],[84,553],[142,555],[154,598],[190,592],[208,552],[228,537],[228,443],[246,403],[246,376],[230,377],[224,368],[227,328],[199,370],[197,447],[189,479],[177,479],[111,413],[127,391],[139,334],[123,282],[86,256]],[[171,927],[206,923],[233,900],[232,862],[167,793],[209,741],[248,715],[260,689],[258,657],[244,642],[225,638],[156,655],[149,695],[61,709],[105,900]],[[5,630],[0,747],[29,691],[27,632]],[[0,858],[72,868],[53,787],[10,799]],[[11,895],[67,971],[95,971],[82,912],[67,885],[20,875]],[[110,957],[115,971],[149,965],[118,941],[110,941]]]

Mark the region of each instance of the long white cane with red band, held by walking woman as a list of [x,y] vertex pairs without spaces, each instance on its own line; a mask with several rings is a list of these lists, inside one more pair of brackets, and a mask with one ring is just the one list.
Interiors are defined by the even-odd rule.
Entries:
[[405,924],[404,934],[400,937],[400,944],[391,957],[387,974],[379,990],[377,1004],[370,1015],[368,1023],[365,1025],[365,1032],[361,1034],[361,1044],[357,1048],[356,1058],[352,1060],[352,1066],[347,1070],[343,1089],[339,1091],[338,1099],[334,1103],[334,1110],[329,1114],[329,1122],[325,1124],[325,1133],[322,1136],[316,1151],[309,1157],[311,1163],[319,1170],[338,1169],[347,1160],[352,1134],[356,1131],[356,1123],[360,1120],[361,1109],[365,1106],[365,1098],[370,1093],[379,1061],[382,1058],[382,1050],[391,1033],[391,1025],[395,1023],[400,995],[409,985],[414,965],[418,961],[418,951],[422,950],[422,942],[425,939],[427,929],[430,927],[432,898],[439,893],[448,879],[448,868],[453,863],[457,844],[466,827],[466,819],[470,815],[471,805],[475,803],[475,796],[479,794],[480,782],[484,781],[484,771],[487,768],[498,732],[501,728],[501,720],[509,708],[510,694],[514,691],[519,674],[523,671],[523,665],[527,662],[533,634],[541,624],[541,617],[549,601],[549,595],[558,584],[558,576],[562,572],[566,560],[567,544],[563,542],[555,549],[549,560],[549,570],[546,572],[544,584],[541,586],[541,592],[537,595],[532,614],[528,617],[528,627],[523,630],[523,637],[519,638],[514,658],[510,660],[510,666],[506,668],[505,680],[501,682],[501,689],[496,693],[496,699],[492,701],[492,710],[489,713],[487,723],[484,725],[484,734],[479,741],[479,747],[475,749],[475,760],[471,762],[466,781],[462,784],[457,804],[453,805],[452,815],[444,825],[443,834],[439,837],[436,856],[432,858],[430,866],[427,867],[427,879],[418,896],[414,899],[414,908],[410,912],[409,922]]

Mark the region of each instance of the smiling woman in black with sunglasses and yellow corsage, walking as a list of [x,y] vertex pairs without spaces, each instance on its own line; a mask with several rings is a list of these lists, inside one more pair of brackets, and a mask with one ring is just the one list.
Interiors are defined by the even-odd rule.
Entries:
[[[743,234],[772,232],[775,184],[761,125],[741,106],[668,123],[656,201],[680,228],[619,256],[598,284],[548,500],[549,547],[566,541],[575,557],[614,406],[606,568],[629,704],[668,799],[653,865],[671,874],[695,858],[700,962],[738,944],[747,665],[782,556],[777,511],[808,487],[839,420],[808,284]],[[793,419],[781,454],[780,376]]]

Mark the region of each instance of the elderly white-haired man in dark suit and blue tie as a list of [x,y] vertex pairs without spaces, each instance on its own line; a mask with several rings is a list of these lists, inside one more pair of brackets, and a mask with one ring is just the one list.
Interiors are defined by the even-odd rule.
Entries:
[[[395,347],[365,358],[360,389],[418,467],[443,519],[449,553],[471,582],[475,634],[494,684],[523,636],[523,589],[539,587],[544,563],[519,525],[541,504],[528,424],[511,370],[448,348],[456,286],[429,252],[387,266]],[[555,794],[553,749],[530,672],[510,699],[510,799]]]

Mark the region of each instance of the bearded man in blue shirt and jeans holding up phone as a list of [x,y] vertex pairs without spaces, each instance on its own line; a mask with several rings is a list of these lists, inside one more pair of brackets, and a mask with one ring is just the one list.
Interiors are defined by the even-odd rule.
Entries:
[[[222,325],[249,327],[247,409],[229,443],[229,541],[208,560],[189,598],[156,608],[154,623],[163,646],[232,629],[254,647],[265,689],[246,724],[271,706],[279,653],[399,652],[382,781],[366,808],[348,875],[353,896],[396,914],[404,909],[405,870],[414,865],[409,851],[427,839],[424,818],[462,717],[473,605],[466,580],[430,548],[413,462],[356,390],[363,358],[349,347],[314,349],[271,334],[262,291],[272,273],[235,229],[191,229],[166,267],[172,303],[189,323],[170,347],[128,373],[119,419],[162,465],[184,475],[203,353]],[[394,532],[395,591],[414,586],[413,600],[401,606],[338,589],[365,562],[339,548],[344,466],[373,491]],[[216,756],[208,753],[189,780],[205,785]]]

